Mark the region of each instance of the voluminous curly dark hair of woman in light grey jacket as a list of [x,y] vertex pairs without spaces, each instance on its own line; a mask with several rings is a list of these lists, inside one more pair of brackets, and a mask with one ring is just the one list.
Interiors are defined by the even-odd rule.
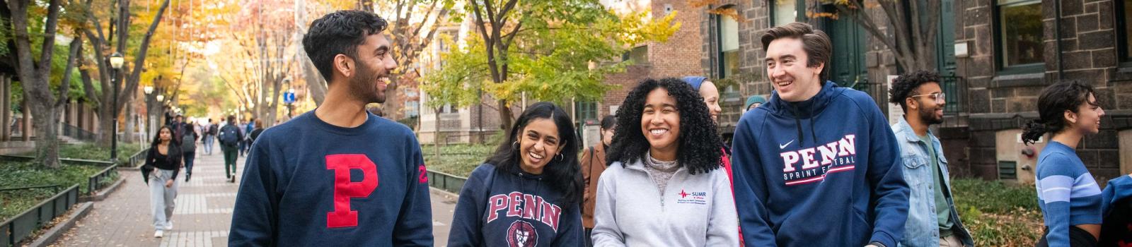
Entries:
[[614,143],[606,152],[607,162],[620,161],[624,167],[626,164],[644,159],[651,145],[641,131],[641,117],[645,98],[657,88],[668,90],[668,95],[676,99],[676,111],[680,114],[677,164],[687,168],[693,175],[706,174],[719,168],[722,153],[715,123],[711,121],[711,114],[707,113],[707,106],[704,105],[700,92],[677,78],[645,79],[629,91],[617,111]]

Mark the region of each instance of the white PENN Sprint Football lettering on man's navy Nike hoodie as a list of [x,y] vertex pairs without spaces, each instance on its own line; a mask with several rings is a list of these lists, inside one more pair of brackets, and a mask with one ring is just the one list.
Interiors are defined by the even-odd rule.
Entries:
[[855,134],[846,134],[838,141],[779,153],[783,165],[782,180],[786,185],[809,184],[825,180],[827,174],[852,170],[857,164],[856,138]]

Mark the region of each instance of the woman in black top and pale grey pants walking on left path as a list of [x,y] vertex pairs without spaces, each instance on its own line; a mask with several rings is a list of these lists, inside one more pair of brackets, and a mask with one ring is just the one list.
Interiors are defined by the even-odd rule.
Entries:
[[153,237],[164,237],[173,230],[173,210],[177,204],[177,174],[181,170],[181,149],[173,142],[173,130],[162,126],[149,144],[142,166],[142,177],[149,185],[149,213],[153,217]]

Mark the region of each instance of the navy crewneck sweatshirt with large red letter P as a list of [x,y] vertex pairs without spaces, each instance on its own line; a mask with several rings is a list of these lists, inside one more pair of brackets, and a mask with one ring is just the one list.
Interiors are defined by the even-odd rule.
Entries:
[[251,145],[235,197],[231,246],[432,246],[420,145],[372,114],[357,127],[315,111]]

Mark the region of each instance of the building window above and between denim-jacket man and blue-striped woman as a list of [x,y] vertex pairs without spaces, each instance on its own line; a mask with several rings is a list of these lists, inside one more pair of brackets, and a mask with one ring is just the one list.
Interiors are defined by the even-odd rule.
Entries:
[[[1002,68],[1044,63],[1040,0],[998,0],[998,47]],[[1035,67],[1040,70],[1040,65]]]

